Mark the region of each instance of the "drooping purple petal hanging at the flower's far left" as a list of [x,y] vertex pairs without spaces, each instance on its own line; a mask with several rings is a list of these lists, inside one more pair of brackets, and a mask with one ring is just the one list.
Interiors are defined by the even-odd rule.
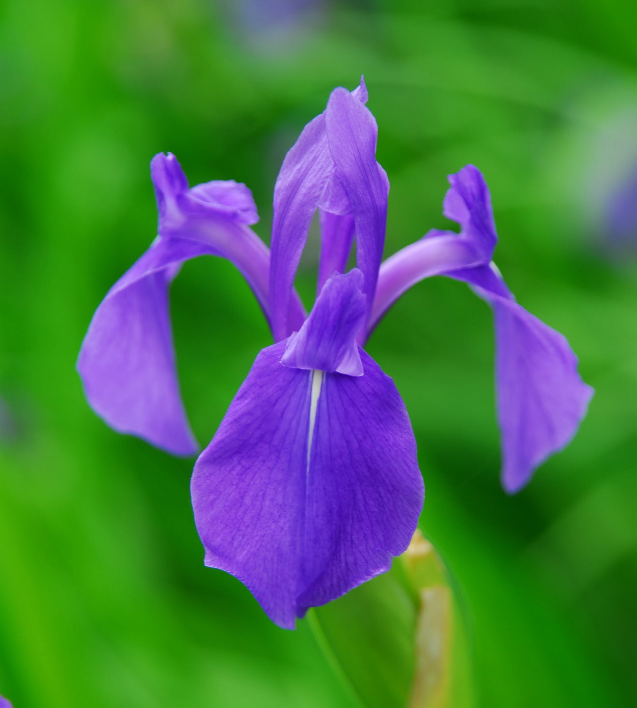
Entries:
[[168,312],[171,273],[210,246],[160,239],[111,288],[93,315],[77,370],[98,416],[174,455],[197,442],[181,401]]

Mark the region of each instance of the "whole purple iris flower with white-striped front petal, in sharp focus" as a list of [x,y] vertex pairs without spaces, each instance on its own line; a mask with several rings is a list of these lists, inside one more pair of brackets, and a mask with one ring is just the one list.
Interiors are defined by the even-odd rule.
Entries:
[[[175,157],[157,155],[158,239],[98,307],[78,362],[88,401],[111,426],[193,454],[168,287],[195,256],[223,256],[245,275],[275,344],[197,459],[191,489],[205,564],[243,581],[281,627],[389,569],[415,530],[424,489],[411,423],[362,349],[408,287],[447,275],[493,307],[507,491],[566,445],[592,394],[566,339],[515,302],[491,262],[497,236],[474,166],[449,178],[444,200],[460,234],[429,232],[381,264],[389,182],[366,101],[362,81],[352,93],[335,89],[288,152],[271,251],[250,229],[257,215],[244,185],[189,189]],[[317,210],[318,296],[306,315],[294,277]],[[354,239],[357,268],[345,273]]]

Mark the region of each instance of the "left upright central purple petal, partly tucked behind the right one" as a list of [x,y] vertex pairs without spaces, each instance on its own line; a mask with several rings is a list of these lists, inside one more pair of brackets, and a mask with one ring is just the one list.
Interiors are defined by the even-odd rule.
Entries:
[[[345,91],[345,89],[343,89]],[[367,101],[365,81],[351,94]],[[328,148],[325,113],[303,129],[285,156],[274,193],[272,219],[272,265],[270,268],[270,315],[275,341],[289,336],[303,324],[303,317],[290,312],[294,276],[307,239],[310,222],[321,203],[333,173]],[[332,273],[328,273],[328,278]]]

